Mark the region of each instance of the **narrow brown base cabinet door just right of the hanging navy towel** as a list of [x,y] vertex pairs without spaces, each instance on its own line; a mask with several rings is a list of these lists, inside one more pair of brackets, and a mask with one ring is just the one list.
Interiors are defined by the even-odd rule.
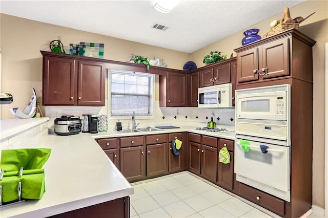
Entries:
[[188,169],[200,175],[200,144],[188,142]]

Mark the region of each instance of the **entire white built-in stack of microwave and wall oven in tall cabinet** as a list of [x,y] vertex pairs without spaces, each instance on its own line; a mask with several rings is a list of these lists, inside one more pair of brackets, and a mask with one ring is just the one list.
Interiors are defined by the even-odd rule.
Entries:
[[237,181],[290,201],[289,84],[236,90]]

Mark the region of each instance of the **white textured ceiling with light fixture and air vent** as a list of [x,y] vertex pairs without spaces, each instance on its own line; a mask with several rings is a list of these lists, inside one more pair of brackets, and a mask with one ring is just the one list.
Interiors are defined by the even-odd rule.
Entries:
[[[152,1],[1,0],[4,14],[191,53],[292,8],[300,1],[182,0],[171,13]],[[167,26],[166,31],[152,28]]]

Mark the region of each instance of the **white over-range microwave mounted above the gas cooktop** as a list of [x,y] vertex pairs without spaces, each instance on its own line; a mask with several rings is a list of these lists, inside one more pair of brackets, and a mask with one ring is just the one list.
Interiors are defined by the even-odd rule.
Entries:
[[198,107],[232,107],[232,84],[225,83],[198,88]]

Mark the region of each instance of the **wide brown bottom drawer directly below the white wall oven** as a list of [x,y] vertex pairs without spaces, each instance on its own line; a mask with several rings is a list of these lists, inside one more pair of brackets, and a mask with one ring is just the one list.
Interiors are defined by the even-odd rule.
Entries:
[[243,183],[239,184],[239,195],[282,216],[285,213],[285,204],[283,200],[248,185],[244,185]]

